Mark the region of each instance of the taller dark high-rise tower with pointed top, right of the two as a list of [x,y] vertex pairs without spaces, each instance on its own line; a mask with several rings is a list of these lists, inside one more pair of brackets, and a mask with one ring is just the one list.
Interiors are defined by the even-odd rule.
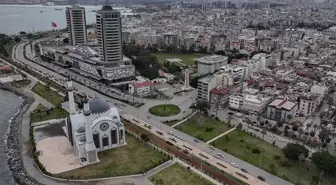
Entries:
[[100,60],[114,66],[123,60],[120,12],[105,5],[96,15],[96,32]]

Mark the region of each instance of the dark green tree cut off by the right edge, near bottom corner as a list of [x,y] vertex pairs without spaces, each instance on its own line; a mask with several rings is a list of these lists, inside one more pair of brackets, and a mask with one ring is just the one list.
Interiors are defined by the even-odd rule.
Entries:
[[336,174],[336,158],[328,152],[316,152],[311,159],[320,170],[329,174]]

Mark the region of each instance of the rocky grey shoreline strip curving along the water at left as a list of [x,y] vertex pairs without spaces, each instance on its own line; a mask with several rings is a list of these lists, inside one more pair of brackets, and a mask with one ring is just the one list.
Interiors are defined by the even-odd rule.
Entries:
[[9,130],[7,134],[7,165],[12,174],[12,177],[17,184],[22,185],[42,185],[37,182],[34,178],[30,177],[24,168],[22,156],[21,156],[21,123],[23,114],[29,109],[33,104],[34,98],[19,92],[17,89],[12,87],[0,85],[0,89],[12,92],[17,96],[24,99],[21,104],[18,113],[16,113],[9,121]]

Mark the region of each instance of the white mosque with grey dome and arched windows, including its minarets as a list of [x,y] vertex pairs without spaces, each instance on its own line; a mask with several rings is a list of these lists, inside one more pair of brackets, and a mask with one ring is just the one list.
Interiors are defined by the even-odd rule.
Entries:
[[125,127],[119,112],[105,101],[86,99],[76,111],[72,81],[68,81],[70,115],[63,128],[81,164],[99,162],[97,152],[125,145]]

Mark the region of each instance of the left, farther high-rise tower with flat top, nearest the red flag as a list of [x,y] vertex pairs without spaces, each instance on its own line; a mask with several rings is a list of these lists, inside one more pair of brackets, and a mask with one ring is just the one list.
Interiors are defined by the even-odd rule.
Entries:
[[86,43],[85,9],[79,6],[67,7],[66,17],[69,43],[73,46]]

